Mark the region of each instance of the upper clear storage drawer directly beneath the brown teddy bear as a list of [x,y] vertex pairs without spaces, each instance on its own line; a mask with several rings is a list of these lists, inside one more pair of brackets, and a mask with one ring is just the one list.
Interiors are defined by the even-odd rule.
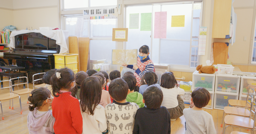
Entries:
[[204,87],[208,91],[214,91],[214,84],[215,84],[215,73],[214,74],[207,74],[207,73],[198,73],[195,71],[193,73],[193,84],[192,84],[192,91],[195,90],[197,87]]

